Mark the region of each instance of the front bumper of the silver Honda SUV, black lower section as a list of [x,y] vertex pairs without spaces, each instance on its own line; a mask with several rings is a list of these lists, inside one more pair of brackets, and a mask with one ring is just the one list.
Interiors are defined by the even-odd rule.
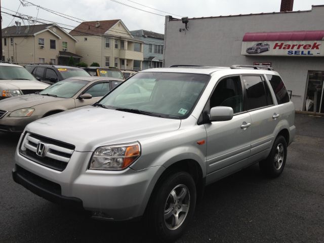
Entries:
[[[50,201],[82,207],[96,212],[96,215],[104,215],[108,220],[129,220],[142,216],[164,167],[140,171],[131,168],[123,171],[92,171],[87,169],[91,156],[92,152],[74,151],[65,170],[59,172],[34,163],[17,150],[13,177],[17,183]],[[36,179],[30,183],[26,176],[19,173],[20,168]],[[50,193],[44,181],[51,185]],[[52,187],[60,190],[53,191]]]

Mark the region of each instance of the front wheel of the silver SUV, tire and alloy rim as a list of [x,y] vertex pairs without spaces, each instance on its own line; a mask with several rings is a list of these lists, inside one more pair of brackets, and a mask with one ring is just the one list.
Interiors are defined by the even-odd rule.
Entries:
[[154,238],[161,242],[179,238],[191,221],[195,206],[196,186],[190,174],[177,172],[162,180],[154,190],[146,217]]

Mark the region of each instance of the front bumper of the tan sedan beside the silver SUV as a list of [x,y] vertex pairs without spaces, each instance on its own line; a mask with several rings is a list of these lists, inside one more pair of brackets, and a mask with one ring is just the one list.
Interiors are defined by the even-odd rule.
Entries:
[[8,112],[0,119],[0,132],[21,133],[25,127],[34,120],[42,118],[41,115],[27,117],[10,117]]

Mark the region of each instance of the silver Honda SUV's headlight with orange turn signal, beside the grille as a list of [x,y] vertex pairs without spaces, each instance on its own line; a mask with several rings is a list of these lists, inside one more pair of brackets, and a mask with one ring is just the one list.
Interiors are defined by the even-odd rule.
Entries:
[[140,155],[139,142],[99,147],[92,155],[89,170],[123,170]]

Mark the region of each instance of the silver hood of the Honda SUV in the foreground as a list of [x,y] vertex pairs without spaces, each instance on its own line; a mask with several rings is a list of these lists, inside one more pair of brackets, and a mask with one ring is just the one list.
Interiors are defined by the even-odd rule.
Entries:
[[139,141],[148,135],[179,129],[180,119],[167,119],[86,106],[33,121],[26,131],[75,145],[76,151]]

